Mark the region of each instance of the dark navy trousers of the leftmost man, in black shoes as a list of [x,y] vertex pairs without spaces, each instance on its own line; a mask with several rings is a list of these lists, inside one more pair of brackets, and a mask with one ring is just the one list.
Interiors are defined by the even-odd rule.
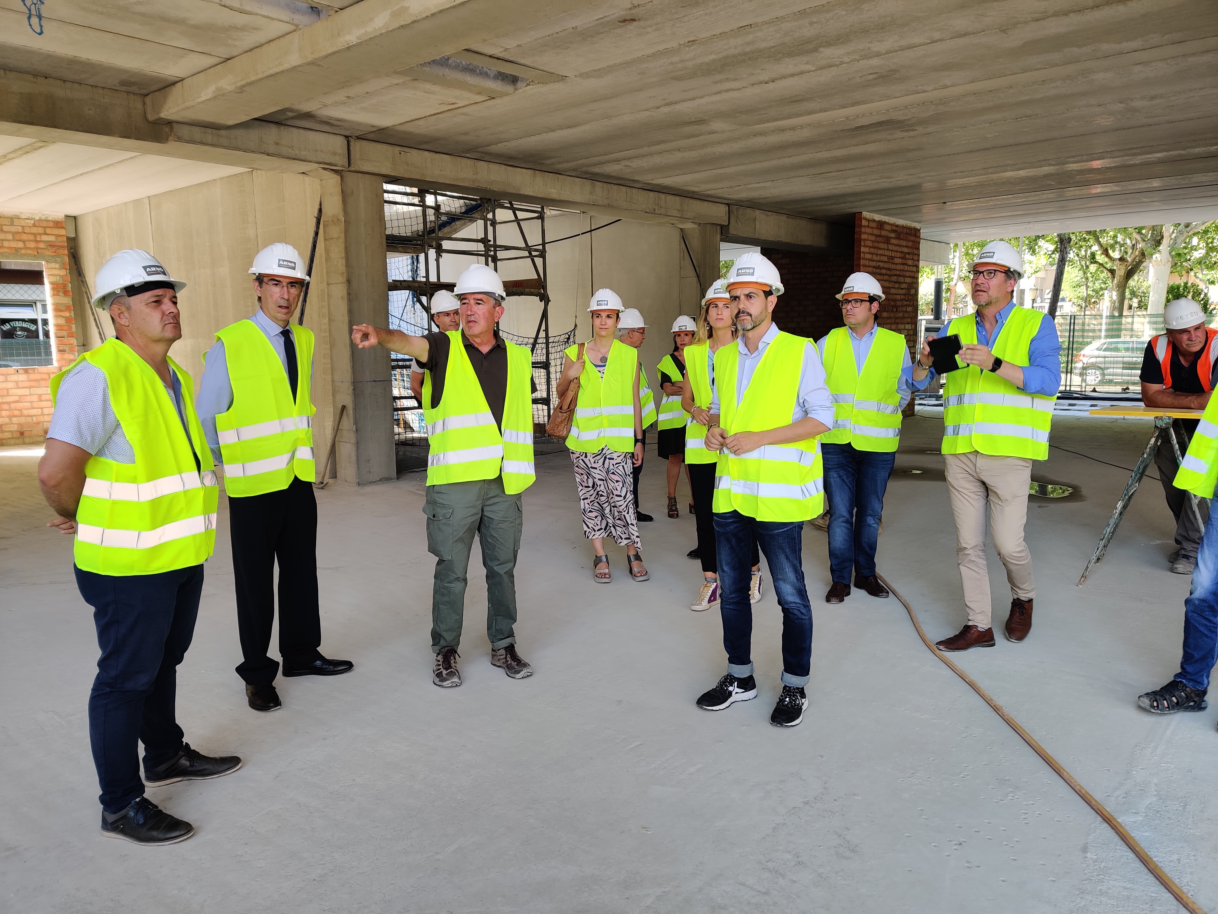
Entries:
[[203,567],[161,574],[108,575],[76,569],[77,587],[97,628],[97,676],[89,695],[89,741],[101,808],[117,813],[144,796],[144,769],[181,751],[174,714],[178,664],[190,647],[203,591]]

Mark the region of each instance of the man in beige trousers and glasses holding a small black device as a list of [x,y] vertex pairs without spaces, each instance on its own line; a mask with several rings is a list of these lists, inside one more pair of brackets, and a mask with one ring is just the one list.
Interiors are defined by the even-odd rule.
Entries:
[[[943,461],[956,522],[956,562],[968,620],[940,651],[994,647],[985,564],[985,514],[1011,586],[1004,631],[1021,642],[1032,630],[1035,584],[1023,539],[1032,464],[1049,457],[1049,427],[1061,386],[1061,344],[1051,318],[1018,308],[1012,295],[1023,258],[1005,241],[987,243],[972,271],[977,311],[954,318],[939,336],[957,335],[963,368],[944,378]],[[923,341],[910,373],[916,390],[934,375]]]

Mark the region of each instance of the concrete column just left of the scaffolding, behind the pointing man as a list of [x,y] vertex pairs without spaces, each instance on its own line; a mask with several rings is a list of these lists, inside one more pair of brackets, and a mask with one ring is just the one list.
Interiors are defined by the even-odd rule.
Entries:
[[[342,172],[322,182],[330,379],[334,414],[347,407],[339,428],[337,473],[346,483],[397,478],[393,451],[393,396],[390,356],[359,350],[352,324],[389,327],[389,274],[385,264],[385,206],[381,179]],[[318,466],[326,438],[314,435]]]

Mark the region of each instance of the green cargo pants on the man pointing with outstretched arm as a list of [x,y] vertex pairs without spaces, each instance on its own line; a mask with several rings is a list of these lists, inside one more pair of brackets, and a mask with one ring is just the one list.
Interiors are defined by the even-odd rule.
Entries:
[[516,642],[516,553],[524,526],[520,495],[503,491],[503,476],[429,485],[428,552],[436,557],[431,586],[431,650],[460,645],[465,585],[474,534],[486,569],[486,637],[498,651]]

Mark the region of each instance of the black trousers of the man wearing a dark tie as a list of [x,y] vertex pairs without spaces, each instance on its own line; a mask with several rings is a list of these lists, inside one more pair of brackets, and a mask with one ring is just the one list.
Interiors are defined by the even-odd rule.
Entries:
[[279,654],[289,664],[308,664],[322,654],[317,597],[317,498],[313,485],[292,479],[278,492],[229,497],[236,626],[241,654],[236,668],[252,685],[274,681],[279,663],[267,656],[275,622],[274,568],[279,562]]

